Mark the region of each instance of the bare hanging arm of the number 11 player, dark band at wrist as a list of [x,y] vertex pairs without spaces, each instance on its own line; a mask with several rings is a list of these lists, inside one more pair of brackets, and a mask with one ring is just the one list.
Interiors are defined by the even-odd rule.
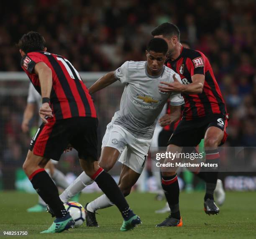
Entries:
[[[41,85],[41,96],[42,98],[50,98],[51,88],[52,88],[52,72],[51,69],[44,63],[38,62],[35,66],[35,74],[38,75],[40,85]],[[49,102],[43,102],[41,108],[39,109],[39,116],[44,123],[48,123],[46,116],[53,117],[52,110]]]

